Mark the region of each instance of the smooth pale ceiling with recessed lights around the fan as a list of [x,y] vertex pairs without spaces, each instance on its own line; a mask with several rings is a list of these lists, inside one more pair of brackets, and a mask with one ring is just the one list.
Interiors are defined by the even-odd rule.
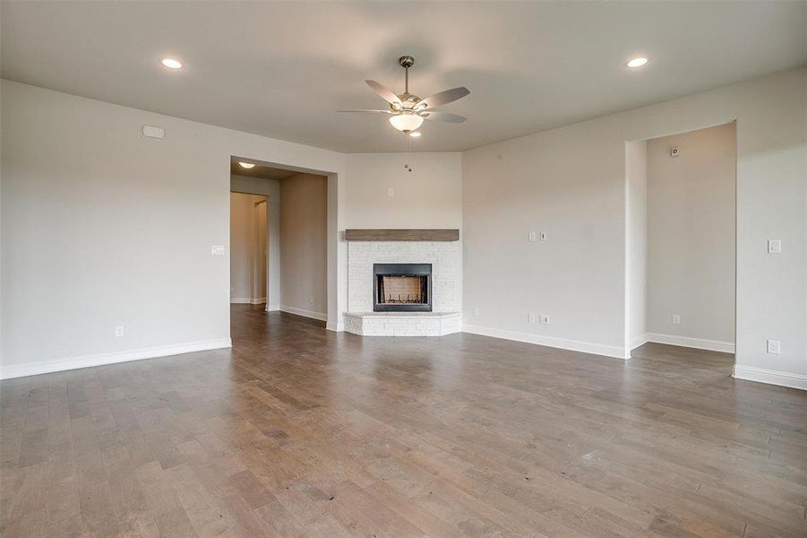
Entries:
[[[807,63],[807,2],[2,3],[2,75],[340,152],[410,139],[363,82],[471,94],[412,151],[459,151]],[[624,67],[647,55],[639,71]],[[159,58],[186,68],[168,72]]]

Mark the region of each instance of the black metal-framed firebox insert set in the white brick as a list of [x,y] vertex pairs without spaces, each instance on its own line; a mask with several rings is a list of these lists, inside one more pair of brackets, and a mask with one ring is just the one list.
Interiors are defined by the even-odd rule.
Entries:
[[431,264],[373,264],[373,312],[431,311]]

